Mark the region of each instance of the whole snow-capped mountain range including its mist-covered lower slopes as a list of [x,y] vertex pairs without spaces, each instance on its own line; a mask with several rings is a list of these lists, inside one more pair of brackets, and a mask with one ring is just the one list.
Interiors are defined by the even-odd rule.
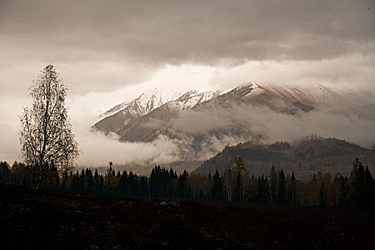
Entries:
[[[352,91],[319,84],[296,87],[251,82],[224,93],[153,89],[106,111],[101,118],[92,126],[96,131],[117,134],[119,141],[172,141],[179,148],[173,154],[180,161],[169,164],[195,169],[226,145],[239,142],[292,140],[313,133],[355,136],[351,130],[357,121],[361,127],[374,125],[375,107]],[[346,129],[340,131],[341,127]]]

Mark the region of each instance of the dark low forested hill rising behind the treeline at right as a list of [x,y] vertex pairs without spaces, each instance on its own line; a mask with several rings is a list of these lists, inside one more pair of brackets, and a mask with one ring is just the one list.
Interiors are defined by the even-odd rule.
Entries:
[[309,139],[291,145],[279,141],[274,144],[255,144],[251,141],[236,146],[226,146],[225,149],[213,158],[204,161],[196,172],[201,174],[220,174],[229,166],[233,166],[233,159],[241,155],[244,165],[251,175],[266,174],[270,166],[291,172],[299,179],[311,179],[317,172],[342,174],[349,176],[353,161],[356,158],[375,171],[375,150],[365,149],[356,144],[335,138],[318,139],[311,136]]

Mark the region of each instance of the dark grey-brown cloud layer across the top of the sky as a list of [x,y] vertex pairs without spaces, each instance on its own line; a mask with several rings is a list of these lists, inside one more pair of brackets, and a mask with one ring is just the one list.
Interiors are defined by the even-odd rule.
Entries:
[[350,0],[5,1],[0,29],[16,44],[54,44],[77,51],[76,59],[322,59],[365,52],[375,36],[374,6]]

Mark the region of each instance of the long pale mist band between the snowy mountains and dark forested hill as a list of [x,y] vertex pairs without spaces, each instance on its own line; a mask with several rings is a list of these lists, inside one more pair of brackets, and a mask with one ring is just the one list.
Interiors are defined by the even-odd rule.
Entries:
[[[309,113],[301,111],[294,115],[252,105],[186,110],[167,124],[173,139],[161,134],[149,143],[119,142],[116,135],[106,136],[88,129],[91,124],[86,119],[88,122],[84,124],[74,124],[81,149],[78,164],[108,166],[108,162],[113,161],[117,166],[134,165],[132,170],[137,172],[138,168],[144,172],[147,166],[151,168],[154,164],[172,166],[176,161],[204,161],[226,145],[239,142],[293,142],[311,134],[346,139],[370,148],[375,144],[375,119],[368,115],[372,109],[364,107],[361,112],[341,107]],[[158,124],[151,122],[147,126]]]

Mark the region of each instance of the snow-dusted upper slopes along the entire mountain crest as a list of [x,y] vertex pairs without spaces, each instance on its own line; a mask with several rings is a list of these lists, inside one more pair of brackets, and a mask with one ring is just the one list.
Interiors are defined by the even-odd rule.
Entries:
[[118,104],[101,114],[99,116],[101,121],[97,122],[94,128],[105,133],[114,132],[118,134],[122,127],[134,121],[134,119],[149,114],[149,112],[168,102],[170,102],[169,108],[174,107],[178,110],[184,110],[192,109],[197,104],[202,104],[211,99],[213,99],[211,104],[214,104],[214,106],[225,103],[230,104],[234,100],[237,102],[244,101],[247,104],[273,106],[274,100],[279,99],[298,109],[302,108],[304,111],[309,111],[319,106],[339,104],[343,100],[363,104],[361,98],[355,94],[330,89],[319,84],[296,87],[260,84],[251,81],[249,84],[236,87],[224,94],[219,91],[199,92],[193,90],[179,92],[171,89],[155,88],[151,91],[146,91],[132,101]]

